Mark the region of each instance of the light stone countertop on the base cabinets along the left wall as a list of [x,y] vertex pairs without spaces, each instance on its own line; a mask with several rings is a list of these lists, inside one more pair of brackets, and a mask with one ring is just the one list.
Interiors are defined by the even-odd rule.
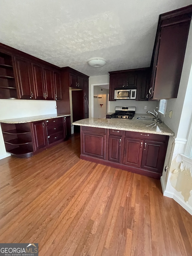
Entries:
[[35,121],[40,121],[45,119],[63,117],[63,116],[70,116],[70,115],[61,113],[61,114],[51,114],[51,115],[42,115],[42,116],[29,116],[29,117],[0,120],[0,122],[6,123],[6,124],[20,124],[20,123],[29,123],[29,122],[35,122]]

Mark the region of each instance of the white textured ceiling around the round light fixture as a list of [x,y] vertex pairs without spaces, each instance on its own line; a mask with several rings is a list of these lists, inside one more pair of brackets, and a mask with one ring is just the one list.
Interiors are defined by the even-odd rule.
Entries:
[[[150,65],[159,14],[191,0],[0,1],[0,42],[89,76]],[[104,58],[92,68],[87,60]]]

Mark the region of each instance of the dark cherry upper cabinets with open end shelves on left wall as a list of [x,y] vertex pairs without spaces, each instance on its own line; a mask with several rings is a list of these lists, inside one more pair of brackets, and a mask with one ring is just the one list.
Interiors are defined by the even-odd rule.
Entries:
[[60,68],[0,44],[0,98],[61,100]]

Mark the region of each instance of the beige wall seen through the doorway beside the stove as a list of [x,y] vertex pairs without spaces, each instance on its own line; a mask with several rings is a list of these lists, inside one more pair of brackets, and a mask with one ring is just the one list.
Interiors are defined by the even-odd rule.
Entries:
[[[101,98],[94,98],[94,118],[104,118],[107,113],[107,94],[109,93],[109,89],[103,89],[101,91],[101,87],[94,86],[94,96]],[[101,107],[100,104],[103,104]]]

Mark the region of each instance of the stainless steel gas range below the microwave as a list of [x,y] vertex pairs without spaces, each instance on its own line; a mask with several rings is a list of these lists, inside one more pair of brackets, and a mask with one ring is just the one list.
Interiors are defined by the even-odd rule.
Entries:
[[111,118],[125,118],[132,119],[135,115],[135,107],[115,107],[115,113],[111,115]]

